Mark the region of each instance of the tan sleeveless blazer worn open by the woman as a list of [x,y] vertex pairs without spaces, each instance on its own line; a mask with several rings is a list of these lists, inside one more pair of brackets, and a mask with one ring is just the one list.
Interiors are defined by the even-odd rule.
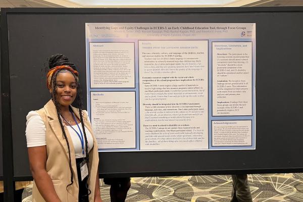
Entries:
[[[79,118],[78,109],[72,107],[73,112]],[[76,168],[76,159],[75,159],[75,150],[72,139],[68,132],[66,126],[64,126],[71,152],[71,162],[72,169],[74,173],[73,181],[74,183],[71,186],[70,184],[71,173],[69,169],[69,156],[66,140],[64,139],[62,129],[58,120],[56,107],[52,100],[49,100],[46,105],[36,111],[42,118],[45,128],[46,128],[46,150],[47,150],[47,160],[46,160],[46,171],[51,177],[56,193],[58,194],[62,202],[78,202],[78,177],[77,177],[77,168]],[[91,125],[87,121],[87,115],[83,113],[83,122],[85,127],[93,134]],[[89,201],[94,200],[94,189],[98,168],[98,145],[95,137],[93,137],[93,148],[89,152],[89,189],[91,193],[89,194]],[[33,202],[43,202],[45,201],[40,195],[37,186],[34,182],[32,190],[32,201]]]

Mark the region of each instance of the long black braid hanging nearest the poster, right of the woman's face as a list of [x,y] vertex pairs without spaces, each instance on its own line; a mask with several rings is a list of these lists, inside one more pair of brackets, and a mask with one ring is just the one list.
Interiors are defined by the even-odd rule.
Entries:
[[[82,99],[81,99],[81,92],[80,92],[80,88],[78,88],[79,83],[77,83],[77,104],[78,104],[78,110],[79,110],[79,116],[80,116],[80,121],[81,121],[81,126],[83,129],[83,134],[84,134],[84,140],[85,140],[85,162],[87,165],[87,168],[89,168],[89,156],[88,156],[88,145],[87,145],[87,137],[86,137],[86,133],[85,133],[85,128],[84,128],[84,122],[83,122],[83,115],[82,115]],[[88,175],[87,175],[87,179],[89,179],[90,176],[90,170],[88,169]],[[86,180],[86,188],[88,190],[88,195],[91,193],[89,187],[88,187],[88,183]]]

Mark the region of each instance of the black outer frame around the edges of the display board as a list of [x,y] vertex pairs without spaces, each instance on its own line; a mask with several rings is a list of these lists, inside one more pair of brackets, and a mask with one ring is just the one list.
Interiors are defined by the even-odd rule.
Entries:
[[[12,201],[15,181],[32,180],[31,176],[14,175],[13,137],[12,137],[12,114],[11,114],[11,85],[9,64],[9,33],[8,15],[14,14],[233,14],[233,13],[295,13],[303,12],[303,7],[250,7],[250,8],[107,8],[107,9],[70,9],[70,8],[15,8],[1,9],[1,90],[2,90],[2,137],[3,137],[3,161],[6,162],[3,171],[5,200]],[[84,39],[83,39],[84,40]],[[258,54],[258,53],[257,53]],[[5,134],[5,135],[4,135]],[[258,134],[257,134],[258,135]],[[142,155],[160,155],[157,152],[140,151]],[[102,153],[101,153],[102,154]],[[130,154],[130,153],[127,153]],[[115,153],[114,155],[125,155]],[[172,176],[172,175],[216,175],[216,174],[242,174],[242,173],[291,173],[303,172],[300,168],[277,168],[277,169],[236,169],[236,170],[180,170],[165,172],[127,172],[127,173],[102,173],[100,177],[125,177],[125,176]]]

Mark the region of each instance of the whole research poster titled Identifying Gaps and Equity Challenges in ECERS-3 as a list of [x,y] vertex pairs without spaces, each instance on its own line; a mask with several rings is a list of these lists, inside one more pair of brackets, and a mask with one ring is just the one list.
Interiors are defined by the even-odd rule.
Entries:
[[256,24],[86,23],[100,152],[256,148]]

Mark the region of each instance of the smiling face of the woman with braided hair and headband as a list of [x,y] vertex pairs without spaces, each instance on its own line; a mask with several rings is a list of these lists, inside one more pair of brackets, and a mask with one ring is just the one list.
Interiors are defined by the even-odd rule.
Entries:
[[[74,75],[69,71],[58,73],[56,95],[61,108],[71,105],[77,95],[77,84]],[[52,92],[50,90],[50,92]]]

